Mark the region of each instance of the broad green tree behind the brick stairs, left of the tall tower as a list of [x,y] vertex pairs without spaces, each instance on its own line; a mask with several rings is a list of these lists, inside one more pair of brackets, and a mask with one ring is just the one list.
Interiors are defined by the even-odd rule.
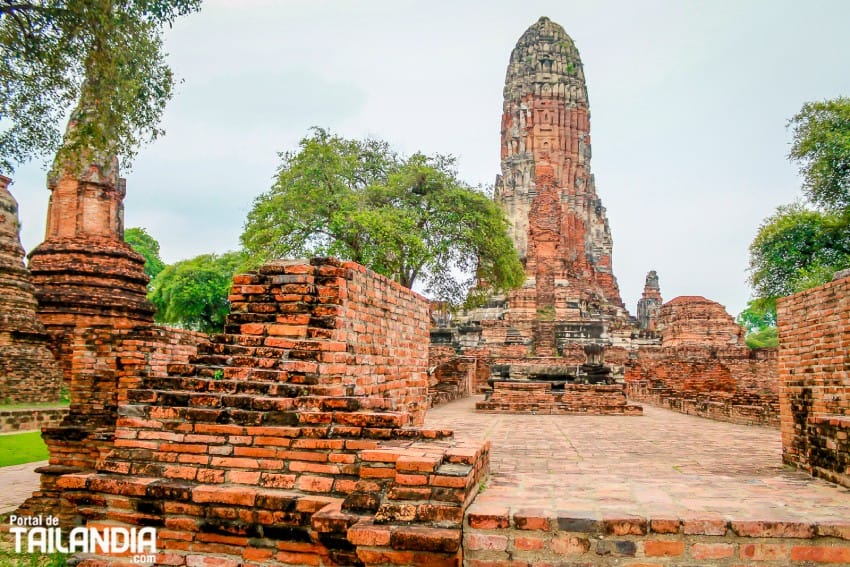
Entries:
[[255,261],[335,256],[455,304],[476,278],[492,289],[522,284],[503,211],[458,179],[453,157],[403,157],[386,142],[317,128],[281,157],[242,234]]

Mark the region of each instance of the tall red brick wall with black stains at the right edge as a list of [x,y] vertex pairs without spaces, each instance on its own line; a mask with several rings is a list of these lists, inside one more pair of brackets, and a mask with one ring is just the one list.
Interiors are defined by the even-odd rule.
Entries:
[[850,486],[850,277],[781,298],[785,463]]

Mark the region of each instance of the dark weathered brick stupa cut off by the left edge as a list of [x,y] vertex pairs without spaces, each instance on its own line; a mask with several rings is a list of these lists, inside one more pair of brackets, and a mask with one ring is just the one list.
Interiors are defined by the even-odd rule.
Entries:
[[0,402],[59,400],[62,375],[36,317],[38,303],[24,266],[18,203],[0,175]]

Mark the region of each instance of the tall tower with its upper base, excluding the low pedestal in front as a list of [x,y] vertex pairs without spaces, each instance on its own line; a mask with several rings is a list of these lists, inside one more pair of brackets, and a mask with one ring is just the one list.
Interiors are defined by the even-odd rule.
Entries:
[[495,199],[507,213],[526,281],[464,315],[460,343],[517,359],[612,344],[605,333],[627,327],[629,316],[590,172],[587,87],[573,40],[548,18],[529,27],[511,52]]

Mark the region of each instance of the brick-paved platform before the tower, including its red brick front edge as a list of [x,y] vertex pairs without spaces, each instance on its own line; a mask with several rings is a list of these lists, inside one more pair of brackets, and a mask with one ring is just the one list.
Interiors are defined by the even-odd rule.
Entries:
[[783,467],[776,429],[653,407],[480,414],[478,400],[426,419],[492,444],[464,522],[469,567],[850,565],[850,490]]

